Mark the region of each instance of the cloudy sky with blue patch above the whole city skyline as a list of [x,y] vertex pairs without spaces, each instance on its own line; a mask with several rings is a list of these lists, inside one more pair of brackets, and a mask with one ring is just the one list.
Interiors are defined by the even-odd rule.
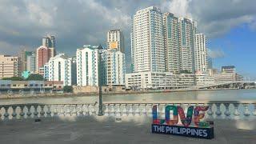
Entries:
[[255,0],[1,0],[0,54],[35,50],[54,34],[58,53],[72,56],[86,44],[106,46],[107,31],[121,29],[130,66],[131,17],[148,6],[192,18],[206,34],[215,68],[234,65],[256,79]]

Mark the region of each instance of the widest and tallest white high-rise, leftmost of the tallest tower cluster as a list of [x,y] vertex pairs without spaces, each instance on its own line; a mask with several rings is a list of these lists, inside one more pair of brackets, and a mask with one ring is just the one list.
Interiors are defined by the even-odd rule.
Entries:
[[165,71],[162,12],[150,6],[138,10],[132,23],[132,62],[134,72]]

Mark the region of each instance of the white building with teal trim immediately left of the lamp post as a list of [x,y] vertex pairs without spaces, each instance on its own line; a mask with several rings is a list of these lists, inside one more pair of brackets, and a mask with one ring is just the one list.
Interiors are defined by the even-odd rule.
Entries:
[[77,50],[78,86],[98,86],[98,46],[85,45]]

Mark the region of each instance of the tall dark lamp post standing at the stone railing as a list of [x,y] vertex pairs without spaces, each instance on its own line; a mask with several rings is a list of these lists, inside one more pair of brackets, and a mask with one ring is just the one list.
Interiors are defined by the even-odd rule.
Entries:
[[102,46],[98,46],[98,116],[102,115]]

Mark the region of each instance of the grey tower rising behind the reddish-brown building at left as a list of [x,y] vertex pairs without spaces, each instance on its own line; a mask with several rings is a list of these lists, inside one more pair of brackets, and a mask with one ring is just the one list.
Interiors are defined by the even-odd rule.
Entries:
[[56,55],[55,45],[54,35],[47,34],[44,38],[42,38],[42,46],[46,46],[52,51],[50,58],[53,58]]

